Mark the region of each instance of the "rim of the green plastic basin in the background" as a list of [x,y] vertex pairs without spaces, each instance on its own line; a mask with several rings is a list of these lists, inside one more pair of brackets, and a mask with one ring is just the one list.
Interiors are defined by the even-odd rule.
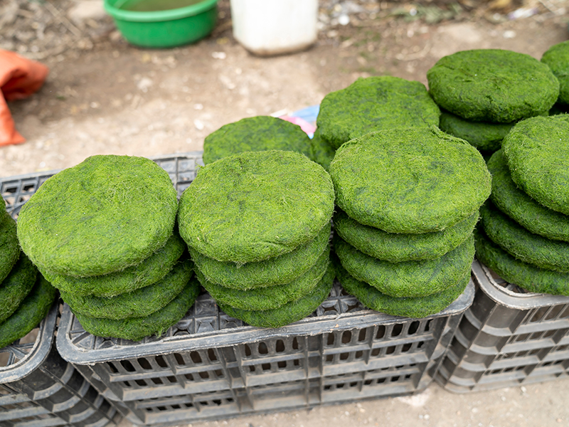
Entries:
[[159,21],[172,21],[174,19],[188,18],[201,14],[205,11],[213,9],[218,3],[218,0],[201,0],[196,4],[184,6],[177,9],[169,9],[166,11],[151,11],[151,12],[138,12],[138,11],[124,11],[118,9],[115,4],[124,4],[127,0],[116,0],[110,4],[112,0],[105,0],[104,7],[110,16],[114,19],[131,22],[159,22]]

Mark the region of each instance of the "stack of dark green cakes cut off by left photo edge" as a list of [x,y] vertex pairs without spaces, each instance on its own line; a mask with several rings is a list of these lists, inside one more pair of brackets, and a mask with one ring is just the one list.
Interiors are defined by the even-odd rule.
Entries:
[[33,330],[46,317],[55,289],[21,253],[16,221],[0,206],[0,348]]

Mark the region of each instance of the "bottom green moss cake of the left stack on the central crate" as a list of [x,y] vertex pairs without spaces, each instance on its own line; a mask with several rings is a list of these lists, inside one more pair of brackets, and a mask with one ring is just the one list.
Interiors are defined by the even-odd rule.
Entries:
[[[74,312],[83,329],[97,337],[124,338],[139,341],[144,337],[156,335],[160,337],[164,332],[176,325],[196,301],[201,285],[194,277],[186,288],[171,300],[166,307],[161,308],[146,317],[131,317],[129,319],[99,319],[88,317]],[[72,310],[73,311],[73,310]]]

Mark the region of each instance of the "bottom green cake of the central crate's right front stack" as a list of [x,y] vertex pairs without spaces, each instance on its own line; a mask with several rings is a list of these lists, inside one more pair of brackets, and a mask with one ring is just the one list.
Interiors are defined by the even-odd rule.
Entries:
[[392,316],[417,319],[445,310],[464,292],[470,280],[470,273],[467,273],[457,284],[438,294],[416,298],[397,298],[385,295],[373,286],[353,278],[341,265],[336,265],[336,274],[344,290],[358,298],[363,305],[371,308],[371,310]]

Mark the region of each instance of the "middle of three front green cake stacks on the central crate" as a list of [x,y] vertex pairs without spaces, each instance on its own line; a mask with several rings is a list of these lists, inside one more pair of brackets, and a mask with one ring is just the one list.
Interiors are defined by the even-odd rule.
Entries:
[[302,154],[243,152],[208,164],[180,199],[196,275],[228,315],[260,327],[306,317],[328,296],[334,188]]

